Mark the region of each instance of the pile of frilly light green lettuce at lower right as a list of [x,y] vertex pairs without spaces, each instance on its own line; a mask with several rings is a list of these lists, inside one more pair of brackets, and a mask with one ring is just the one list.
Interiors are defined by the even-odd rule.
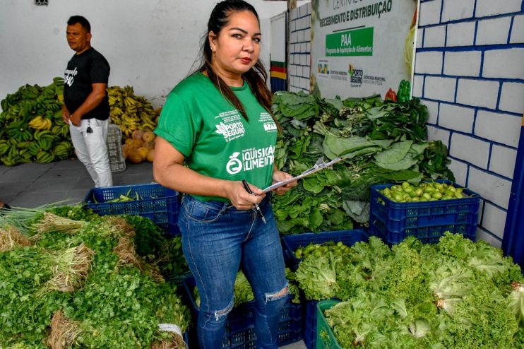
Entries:
[[343,256],[306,256],[296,277],[307,299],[342,300],[324,312],[342,348],[524,345],[520,267],[486,242],[446,233],[390,249],[371,237]]

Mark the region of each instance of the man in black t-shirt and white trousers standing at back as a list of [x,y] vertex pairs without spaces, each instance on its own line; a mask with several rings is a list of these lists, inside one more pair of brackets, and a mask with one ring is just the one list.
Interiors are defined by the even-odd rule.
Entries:
[[95,187],[113,185],[107,155],[109,63],[90,45],[91,26],[82,16],[67,21],[67,43],[76,52],[64,73],[62,118],[69,124],[76,156],[95,182]]

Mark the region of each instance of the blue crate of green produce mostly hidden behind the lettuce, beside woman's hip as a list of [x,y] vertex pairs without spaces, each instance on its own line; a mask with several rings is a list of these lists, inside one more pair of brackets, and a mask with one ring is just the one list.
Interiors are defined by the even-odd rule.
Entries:
[[282,237],[282,252],[286,266],[292,271],[296,271],[301,258],[294,255],[294,251],[298,247],[306,247],[313,242],[314,244],[323,244],[324,242],[343,242],[347,246],[352,246],[355,242],[367,242],[369,235],[363,229],[354,230],[338,230],[333,232],[306,232],[295,235],[284,235]]

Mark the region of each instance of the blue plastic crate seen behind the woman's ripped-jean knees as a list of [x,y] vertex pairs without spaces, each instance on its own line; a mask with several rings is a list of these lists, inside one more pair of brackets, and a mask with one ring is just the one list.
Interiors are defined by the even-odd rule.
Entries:
[[[193,315],[196,322],[198,307],[196,307],[193,289],[195,278],[188,276],[184,279],[184,290],[191,300]],[[291,302],[292,295],[287,297],[284,309],[280,313],[278,324],[278,345],[287,345],[302,339],[302,304]],[[226,331],[222,348],[251,349],[256,348],[254,331],[255,302],[247,302],[234,307],[227,315]]]

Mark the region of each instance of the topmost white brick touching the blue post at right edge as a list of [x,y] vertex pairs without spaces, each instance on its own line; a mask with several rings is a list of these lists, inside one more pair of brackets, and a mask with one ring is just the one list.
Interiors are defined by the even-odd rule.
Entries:
[[475,122],[475,135],[516,148],[521,122],[520,117],[510,114],[479,110]]

